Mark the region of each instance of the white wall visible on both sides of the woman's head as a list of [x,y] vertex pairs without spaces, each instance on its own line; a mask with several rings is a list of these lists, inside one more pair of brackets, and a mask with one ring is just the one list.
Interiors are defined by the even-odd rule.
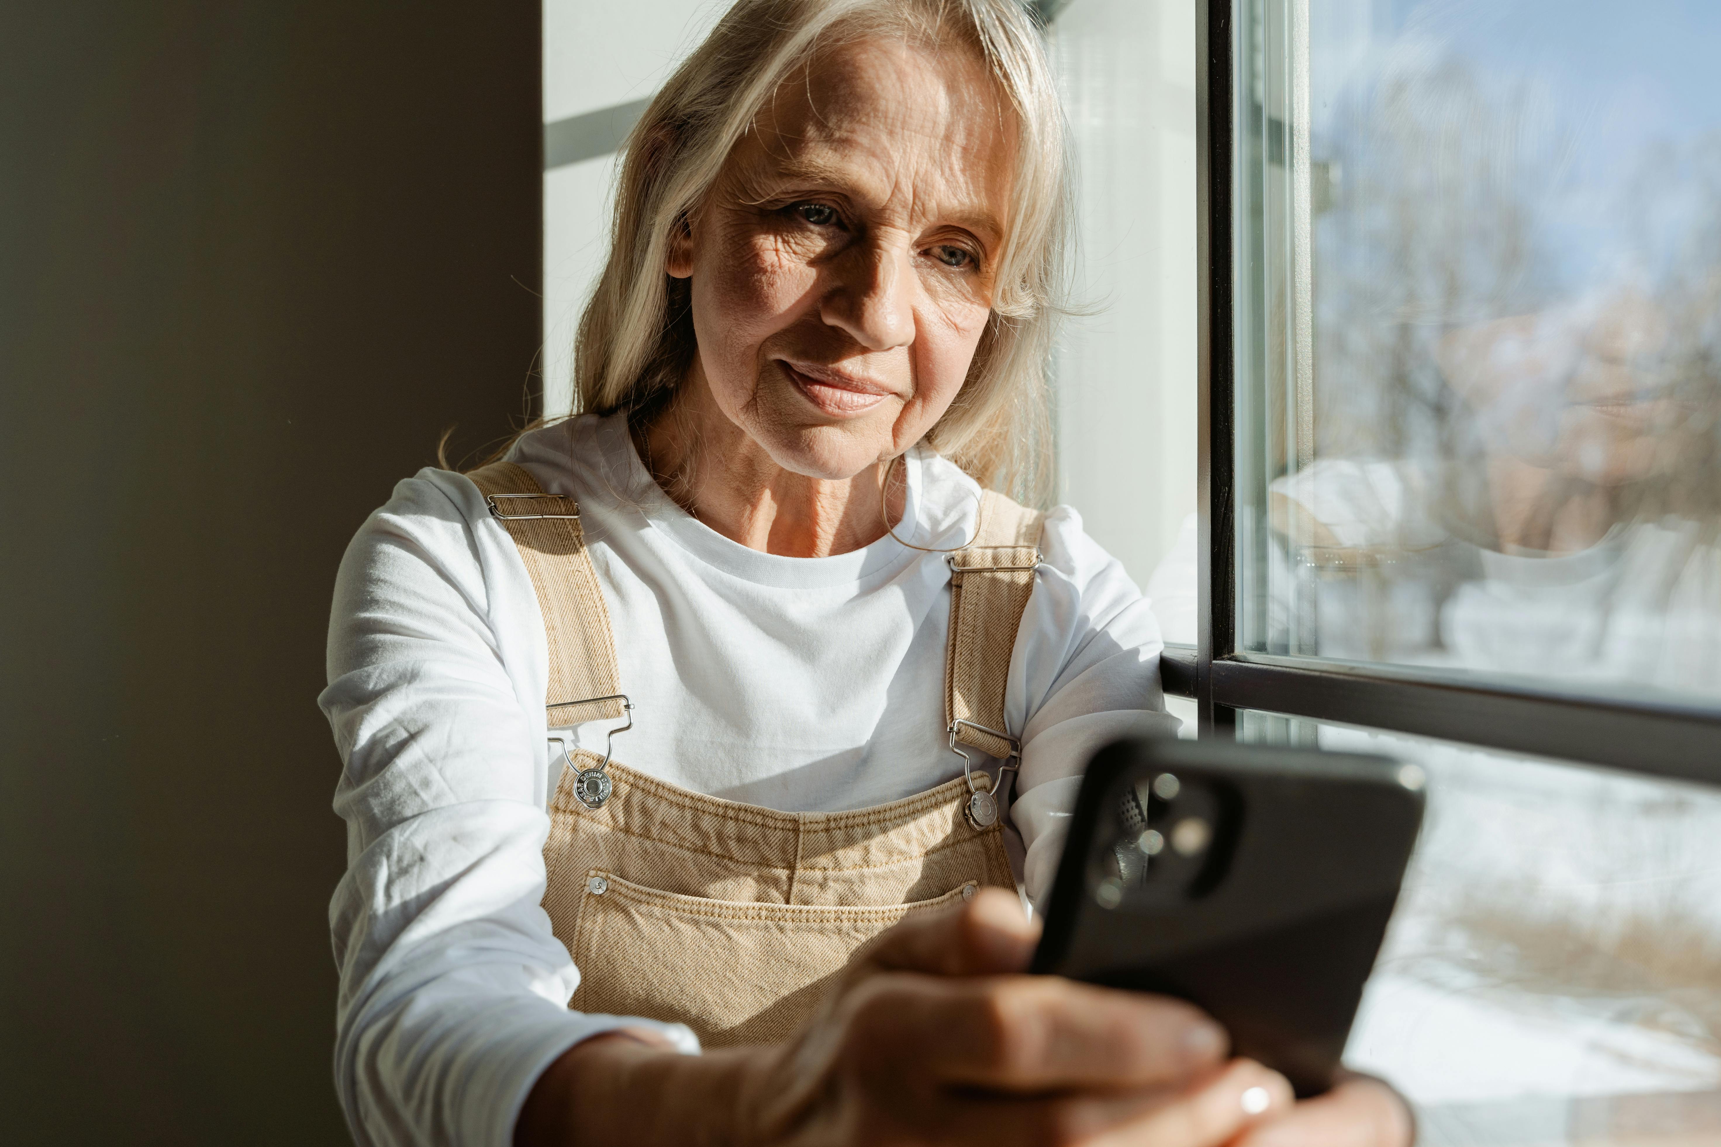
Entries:
[[[649,96],[725,0],[546,0],[544,120]],[[1081,162],[1081,297],[1057,359],[1060,500],[1146,583],[1194,511],[1194,0],[1074,0],[1053,58]],[[606,255],[611,156],[544,175],[546,409]]]

